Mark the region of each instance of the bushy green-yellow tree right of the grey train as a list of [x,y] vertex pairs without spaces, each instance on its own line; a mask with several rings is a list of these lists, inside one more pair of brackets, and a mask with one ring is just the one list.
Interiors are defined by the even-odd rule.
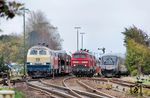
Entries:
[[125,28],[125,46],[127,50],[126,65],[131,74],[150,73],[150,49],[148,48],[148,36],[135,26]]

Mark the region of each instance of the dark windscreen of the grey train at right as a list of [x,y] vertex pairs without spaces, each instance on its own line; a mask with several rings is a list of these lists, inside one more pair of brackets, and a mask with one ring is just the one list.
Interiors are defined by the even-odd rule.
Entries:
[[102,65],[116,65],[117,56],[103,56]]

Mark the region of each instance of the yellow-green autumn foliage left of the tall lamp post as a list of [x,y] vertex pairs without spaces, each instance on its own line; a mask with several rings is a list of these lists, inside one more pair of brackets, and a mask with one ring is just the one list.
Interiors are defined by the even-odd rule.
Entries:
[[22,62],[23,45],[22,36],[20,35],[1,35],[0,36],[0,53],[3,55],[4,63]]

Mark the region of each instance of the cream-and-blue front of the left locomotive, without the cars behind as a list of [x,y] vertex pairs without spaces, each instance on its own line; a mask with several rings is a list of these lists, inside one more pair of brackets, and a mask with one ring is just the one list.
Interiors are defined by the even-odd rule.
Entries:
[[52,65],[50,49],[45,46],[33,46],[27,53],[27,73],[31,77],[50,76]]

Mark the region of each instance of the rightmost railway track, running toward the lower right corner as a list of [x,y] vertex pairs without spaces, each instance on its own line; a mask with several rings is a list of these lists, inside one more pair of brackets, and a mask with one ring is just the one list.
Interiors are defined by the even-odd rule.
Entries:
[[[144,86],[143,84],[128,82],[128,81],[124,81],[124,80],[120,80],[116,78],[91,78],[89,80],[93,81],[95,84],[98,84],[98,85],[109,84],[112,86],[111,87],[112,90],[122,92],[122,93],[129,93],[129,92],[133,93],[134,89],[138,87],[139,89],[138,93],[142,94],[142,98],[149,98],[149,96],[141,92],[143,90],[149,90],[149,88]],[[141,89],[140,85],[142,85],[143,90],[140,90]]]

